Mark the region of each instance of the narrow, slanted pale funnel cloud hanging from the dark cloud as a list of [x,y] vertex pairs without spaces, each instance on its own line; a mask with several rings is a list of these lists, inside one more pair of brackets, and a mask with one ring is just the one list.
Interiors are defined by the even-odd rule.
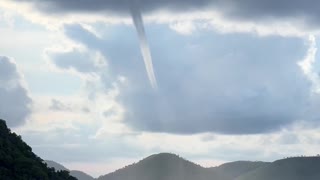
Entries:
[[156,76],[155,76],[154,70],[153,70],[150,47],[149,47],[149,44],[147,41],[146,32],[145,32],[144,26],[143,26],[143,19],[142,19],[141,12],[140,12],[140,9],[138,8],[138,6],[135,6],[135,5],[131,6],[131,17],[132,17],[134,26],[136,27],[137,33],[138,33],[141,54],[142,54],[142,57],[144,60],[144,64],[146,67],[149,81],[151,83],[152,88],[157,89],[158,85],[157,85]]

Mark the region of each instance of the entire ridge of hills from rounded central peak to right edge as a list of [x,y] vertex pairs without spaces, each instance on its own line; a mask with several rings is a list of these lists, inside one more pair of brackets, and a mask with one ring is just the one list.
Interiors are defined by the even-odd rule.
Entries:
[[320,180],[320,157],[269,162],[236,161],[203,168],[177,155],[161,153],[97,180]]

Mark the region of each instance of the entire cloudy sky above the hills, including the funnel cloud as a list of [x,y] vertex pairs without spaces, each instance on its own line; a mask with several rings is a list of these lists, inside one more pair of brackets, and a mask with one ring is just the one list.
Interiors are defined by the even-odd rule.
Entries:
[[0,118],[95,177],[159,152],[316,155],[319,3],[2,0]]

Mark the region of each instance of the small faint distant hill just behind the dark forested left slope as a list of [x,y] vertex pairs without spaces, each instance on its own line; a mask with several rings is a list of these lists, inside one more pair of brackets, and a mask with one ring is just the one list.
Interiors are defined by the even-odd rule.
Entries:
[[60,170],[65,170],[65,171],[69,171],[70,175],[73,177],[76,177],[78,180],[94,180],[94,178],[82,171],[77,171],[77,170],[69,170],[66,167],[64,167],[63,165],[54,162],[54,161],[50,161],[50,160],[45,160],[45,163],[47,164],[48,167],[52,167],[54,168],[56,171],[60,171]]

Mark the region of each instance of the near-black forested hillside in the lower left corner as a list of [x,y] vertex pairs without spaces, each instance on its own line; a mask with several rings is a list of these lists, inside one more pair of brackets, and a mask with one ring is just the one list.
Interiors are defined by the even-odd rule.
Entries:
[[76,180],[68,171],[55,172],[32,152],[21,136],[12,133],[0,119],[0,179],[4,180]]

